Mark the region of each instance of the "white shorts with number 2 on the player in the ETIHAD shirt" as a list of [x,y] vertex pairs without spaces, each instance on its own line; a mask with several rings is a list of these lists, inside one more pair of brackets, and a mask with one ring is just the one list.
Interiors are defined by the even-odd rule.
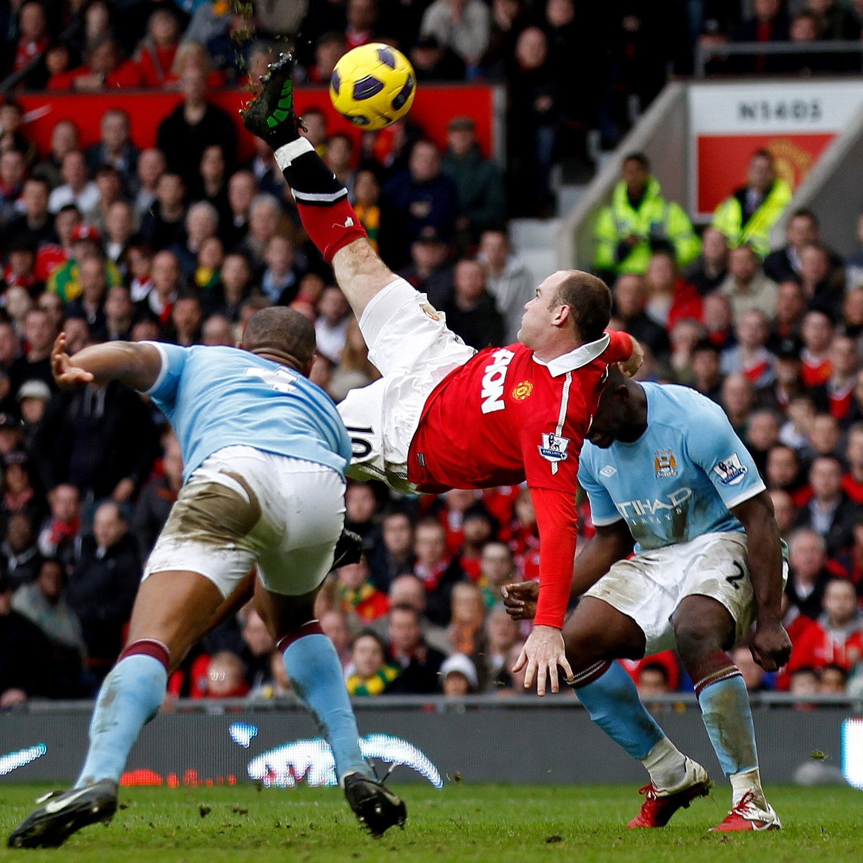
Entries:
[[[783,577],[788,577],[783,565]],[[620,560],[585,593],[631,617],[644,632],[645,656],[676,646],[671,617],[685,596],[710,596],[734,619],[736,640],[755,618],[746,534],[705,533],[678,545]]]

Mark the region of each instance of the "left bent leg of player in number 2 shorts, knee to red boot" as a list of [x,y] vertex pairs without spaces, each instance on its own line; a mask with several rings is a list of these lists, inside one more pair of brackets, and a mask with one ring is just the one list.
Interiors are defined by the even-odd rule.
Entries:
[[635,620],[592,596],[581,600],[563,628],[574,688],[590,718],[650,774],[631,828],[664,827],[678,809],[709,790],[707,771],[681,753],[644,709],[638,690],[613,658],[644,656]]

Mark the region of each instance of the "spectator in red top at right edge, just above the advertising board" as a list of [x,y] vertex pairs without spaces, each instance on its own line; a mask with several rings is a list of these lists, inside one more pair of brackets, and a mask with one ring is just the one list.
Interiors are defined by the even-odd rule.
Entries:
[[797,640],[786,672],[798,668],[838,665],[850,671],[863,658],[863,615],[857,592],[845,578],[834,578],[824,588],[823,614]]

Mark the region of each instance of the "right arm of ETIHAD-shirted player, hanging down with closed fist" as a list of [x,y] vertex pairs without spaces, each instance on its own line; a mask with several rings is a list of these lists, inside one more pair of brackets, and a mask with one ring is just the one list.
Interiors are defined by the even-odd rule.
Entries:
[[752,658],[765,671],[776,671],[791,655],[791,641],[782,626],[782,543],[770,494],[762,491],[732,512],[746,529],[749,572],[758,622],[752,637]]

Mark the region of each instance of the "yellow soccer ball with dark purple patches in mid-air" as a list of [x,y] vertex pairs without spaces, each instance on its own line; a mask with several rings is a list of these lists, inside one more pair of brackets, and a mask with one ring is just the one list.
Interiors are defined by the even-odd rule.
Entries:
[[348,51],[330,79],[330,99],[342,117],[361,129],[384,129],[414,104],[416,75],[407,57],[383,42]]

